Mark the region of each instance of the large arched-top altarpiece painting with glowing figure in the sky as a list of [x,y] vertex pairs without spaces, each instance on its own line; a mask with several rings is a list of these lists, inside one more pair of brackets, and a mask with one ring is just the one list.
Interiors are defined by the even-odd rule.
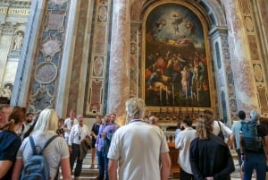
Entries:
[[186,3],[155,4],[143,24],[147,107],[212,107],[207,29]]

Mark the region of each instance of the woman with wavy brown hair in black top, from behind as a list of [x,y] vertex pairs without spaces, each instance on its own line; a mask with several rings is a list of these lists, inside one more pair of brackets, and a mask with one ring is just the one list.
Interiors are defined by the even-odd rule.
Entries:
[[199,115],[197,138],[190,144],[190,165],[197,180],[230,180],[235,170],[230,150],[220,137],[215,136],[214,116]]

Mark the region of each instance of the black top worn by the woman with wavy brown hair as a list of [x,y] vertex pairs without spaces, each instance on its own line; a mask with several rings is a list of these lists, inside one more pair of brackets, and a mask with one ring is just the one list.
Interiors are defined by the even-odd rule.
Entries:
[[230,180],[235,170],[230,150],[220,137],[214,134],[207,140],[196,138],[190,144],[190,165],[197,180],[213,176],[214,179]]

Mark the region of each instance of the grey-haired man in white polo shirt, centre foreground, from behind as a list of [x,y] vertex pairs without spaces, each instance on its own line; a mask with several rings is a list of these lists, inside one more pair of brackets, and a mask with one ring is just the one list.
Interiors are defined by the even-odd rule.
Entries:
[[126,102],[130,124],[113,134],[108,152],[109,180],[168,179],[171,168],[168,144],[160,128],[144,121],[145,108],[143,99]]

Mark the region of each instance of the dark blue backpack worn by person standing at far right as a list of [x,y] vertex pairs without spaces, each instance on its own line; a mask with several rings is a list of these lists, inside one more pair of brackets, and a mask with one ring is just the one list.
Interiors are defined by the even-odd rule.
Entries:
[[257,134],[257,122],[254,120],[241,122],[243,133],[243,147],[245,150],[258,151],[264,149],[263,139]]

